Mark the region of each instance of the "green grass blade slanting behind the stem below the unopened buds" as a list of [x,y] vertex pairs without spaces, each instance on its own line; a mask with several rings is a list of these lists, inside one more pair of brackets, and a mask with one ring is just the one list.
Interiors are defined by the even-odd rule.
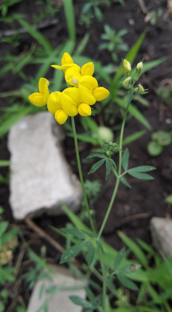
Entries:
[[[117,102],[118,105],[120,105],[123,108],[126,108],[127,103],[125,100],[120,99],[120,98],[115,98],[115,101]],[[150,125],[149,121],[145,118],[145,116],[141,113],[140,110],[133,104],[130,104],[128,107],[128,112],[133,115],[141,124],[143,124],[147,129],[151,130],[152,126]]]

